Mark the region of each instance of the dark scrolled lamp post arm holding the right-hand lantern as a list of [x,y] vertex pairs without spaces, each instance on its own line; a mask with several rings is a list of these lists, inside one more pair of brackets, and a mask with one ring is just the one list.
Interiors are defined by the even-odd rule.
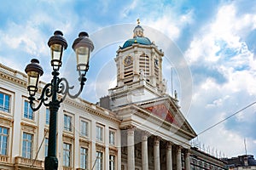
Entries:
[[61,101],[63,101],[67,97],[67,95],[72,99],[76,99],[79,97],[79,95],[82,93],[82,90],[84,88],[84,82],[86,82],[86,78],[83,75],[80,76],[79,82],[80,82],[79,92],[73,95],[73,94],[70,94],[70,90],[72,90],[74,86],[69,86],[66,78],[60,79],[59,84],[61,84],[61,94],[63,95]]

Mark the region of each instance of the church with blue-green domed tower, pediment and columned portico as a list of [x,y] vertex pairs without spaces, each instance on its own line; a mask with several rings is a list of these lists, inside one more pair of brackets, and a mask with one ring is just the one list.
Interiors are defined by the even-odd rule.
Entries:
[[196,134],[177,99],[166,94],[162,57],[138,24],[114,59],[117,86],[109,89],[104,104],[109,100],[121,121],[121,169],[182,169],[182,155],[184,167],[190,167],[189,140]]

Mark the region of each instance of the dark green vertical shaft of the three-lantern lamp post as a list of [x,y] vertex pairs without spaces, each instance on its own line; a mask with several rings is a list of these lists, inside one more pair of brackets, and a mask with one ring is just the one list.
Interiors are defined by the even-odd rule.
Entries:
[[57,114],[60,107],[59,101],[57,100],[58,91],[58,75],[59,72],[52,72],[52,100],[49,103],[49,144],[48,154],[45,157],[44,169],[45,170],[57,170],[58,159],[56,157],[56,127],[57,127]]

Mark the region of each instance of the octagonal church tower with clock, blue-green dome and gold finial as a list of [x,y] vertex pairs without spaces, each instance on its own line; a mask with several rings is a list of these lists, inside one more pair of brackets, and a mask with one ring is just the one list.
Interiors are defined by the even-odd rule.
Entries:
[[166,94],[162,78],[164,53],[144,37],[137,20],[133,37],[119,47],[115,57],[117,86],[109,89],[111,107],[154,99]]

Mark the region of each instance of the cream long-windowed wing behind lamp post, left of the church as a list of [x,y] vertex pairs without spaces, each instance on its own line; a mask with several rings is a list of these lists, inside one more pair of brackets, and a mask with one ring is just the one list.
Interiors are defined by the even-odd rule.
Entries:
[[[0,169],[44,169],[49,110],[42,106],[32,112],[25,74],[0,65],[0,77]],[[83,99],[66,99],[58,114],[59,169],[91,169],[96,156],[97,169],[108,169],[110,162],[117,168],[119,123],[111,111]]]

